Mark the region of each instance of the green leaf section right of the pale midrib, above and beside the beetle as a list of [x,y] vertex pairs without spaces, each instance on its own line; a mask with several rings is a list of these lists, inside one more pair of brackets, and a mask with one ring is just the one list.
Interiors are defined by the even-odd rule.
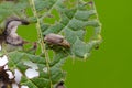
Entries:
[[[68,50],[67,52],[72,56],[87,58],[90,55],[91,48],[101,43],[101,25],[94,2],[75,0],[73,3],[76,4],[72,7],[68,6],[72,2],[63,0],[38,0],[35,2],[37,13],[42,15],[40,20],[43,35],[50,33],[64,35],[70,43],[70,51]],[[52,13],[54,10],[57,11],[56,14]],[[55,15],[58,15],[61,19],[58,20]],[[50,21],[56,20],[52,23],[47,19]],[[84,37],[86,37],[86,32],[89,32],[88,26],[92,26],[94,34],[90,36],[91,40],[86,42]],[[92,41],[96,42],[90,44]],[[58,48],[57,46],[54,47],[54,51]]]

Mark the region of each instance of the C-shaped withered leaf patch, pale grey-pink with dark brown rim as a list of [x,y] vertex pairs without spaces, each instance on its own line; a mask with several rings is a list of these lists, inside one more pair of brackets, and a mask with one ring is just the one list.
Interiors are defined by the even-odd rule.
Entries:
[[25,43],[25,41],[23,41],[23,38],[21,38],[18,35],[16,31],[19,25],[28,25],[28,24],[29,21],[20,19],[18,16],[9,16],[8,19],[6,19],[2,26],[3,31],[0,34],[1,44],[4,43],[12,46],[22,46]]

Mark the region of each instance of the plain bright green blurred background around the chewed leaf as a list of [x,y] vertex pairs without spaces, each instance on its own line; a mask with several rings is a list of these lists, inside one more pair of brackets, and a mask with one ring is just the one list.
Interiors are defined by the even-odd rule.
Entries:
[[[103,43],[86,62],[67,59],[68,88],[132,88],[132,0],[95,0]],[[26,33],[25,33],[26,31]],[[32,33],[31,33],[32,32]],[[35,41],[35,26],[19,30]]]

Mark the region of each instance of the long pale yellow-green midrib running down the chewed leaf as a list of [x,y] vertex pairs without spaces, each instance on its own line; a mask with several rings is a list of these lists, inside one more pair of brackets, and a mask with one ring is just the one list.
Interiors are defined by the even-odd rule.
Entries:
[[38,35],[38,38],[40,38],[42,53],[45,54],[47,72],[50,74],[50,80],[51,80],[51,88],[53,88],[52,78],[51,78],[51,70],[50,70],[50,56],[48,56],[48,53],[47,53],[47,51],[45,48],[45,44],[44,44],[42,31],[41,31],[41,25],[40,25],[41,24],[41,20],[40,20],[38,15],[37,15],[34,0],[29,0],[29,1],[30,1],[31,9],[33,11],[33,14],[37,19],[37,23],[36,23],[37,35]]

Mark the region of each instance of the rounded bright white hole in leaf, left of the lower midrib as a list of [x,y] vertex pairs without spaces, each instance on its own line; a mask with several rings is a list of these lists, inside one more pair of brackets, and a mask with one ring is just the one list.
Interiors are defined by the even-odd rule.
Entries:
[[35,70],[35,69],[32,69],[32,68],[28,68],[26,70],[25,70],[25,76],[28,77],[28,78],[34,78],[34,77],[38,77],[38,72],[37,70]]

